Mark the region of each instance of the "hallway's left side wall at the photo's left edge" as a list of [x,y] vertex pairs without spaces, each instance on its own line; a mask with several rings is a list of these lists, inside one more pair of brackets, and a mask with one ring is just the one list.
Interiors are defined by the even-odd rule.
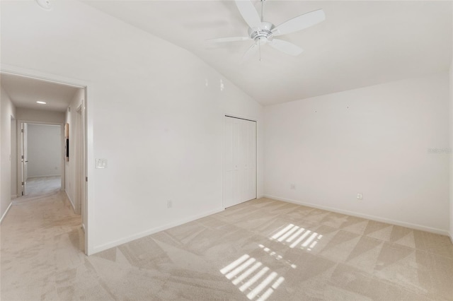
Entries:
[[11,205],[11,116],[16,117],[16,107],[9,95],[0,87],[0,217]]

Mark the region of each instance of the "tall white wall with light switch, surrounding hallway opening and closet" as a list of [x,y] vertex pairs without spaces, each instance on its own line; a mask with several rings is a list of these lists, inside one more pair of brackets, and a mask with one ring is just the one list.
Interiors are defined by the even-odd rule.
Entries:
[[255,100],[185,49],[79,1],[52,5],[2,2],[1,61],[90,83],[88,147],[108,168],[88,157],[88,252],[222,210],[224,114],[258,121],[263,194]]

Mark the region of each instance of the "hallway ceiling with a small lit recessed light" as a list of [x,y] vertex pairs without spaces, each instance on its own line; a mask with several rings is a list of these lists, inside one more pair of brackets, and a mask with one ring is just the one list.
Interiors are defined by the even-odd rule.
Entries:
[[[36,78],[17,76],[14,74],[0,74],[1,88],[4,88],[16,107],[34,110],[48,110],[65,112],[69,107],[76,90],[71,85],[41,81]],[[38,100],[47,102],[47,105],[36,103]]]

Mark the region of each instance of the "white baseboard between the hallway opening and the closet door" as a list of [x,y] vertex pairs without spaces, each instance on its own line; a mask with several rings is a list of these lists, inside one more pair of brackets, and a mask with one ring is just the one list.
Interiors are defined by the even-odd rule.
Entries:
[[156,232],[161,232],[161,231],[167,230],[169,228],[176,227],[178,225],[183,225],[185,223],[192,222],[193,220],[198,220],[200,218],[204,218],[205,216],[210,216],[212,214],[222,212],[224,210],[225,210],[224,208],[218,208],[218,209],[215,209],[215,210],[212,210],[212,211],[207,211],[205,213],[198,214],[197,216],[190,216],[189,218],[183,218],[182,220],[178,220],[178,221],[176,221],[174,223],[168,223],[166,225],[161,225],[161,226],[156,227],[156,228],[151,228],[149,230],[145,230],[143,232],[139,232],[139,233],[134,234],[134,235],[123,237],[120,240],[114,240],[113,242],[107,242],[106,244],[101,244],[101,245],[99,245],[97,247],[93,247],[93,250],[92,250],[93,252],[90,253],[90,255],[91,254],[96,254],[98,252],[102,252],[102,251],[104,251],[106,249],[117,247],[120,244],[125,244],[126,242],[132,242],[132,240],[138,240],[139,238],[154,234]]

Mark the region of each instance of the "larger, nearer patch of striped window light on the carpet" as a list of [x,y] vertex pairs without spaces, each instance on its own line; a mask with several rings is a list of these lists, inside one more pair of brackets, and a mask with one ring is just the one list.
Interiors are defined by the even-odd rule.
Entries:
[[220,270],[249,300],[266,300],[285,278],[271,271],[268,266],[244,254]]

